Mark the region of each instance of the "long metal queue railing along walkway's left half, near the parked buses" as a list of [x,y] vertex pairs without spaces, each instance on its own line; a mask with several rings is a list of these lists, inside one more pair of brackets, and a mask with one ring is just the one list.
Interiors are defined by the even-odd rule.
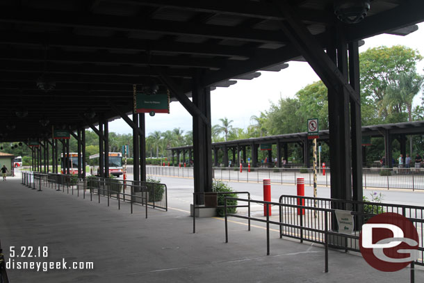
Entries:
[[[88,178],[78,178],[75,175],[40,173],[40,172],[22,172],[22,184],[29,188],[42,191],[42,186],[54,188],[56,191],[67,191],[72,193],[76,191],[79,197],[82,191],[83,198],[90,195],[90,201],[93,195],[97,195],[100,203],[101,196],[107,198],[108,206],[110,200],[117,200],[118,209],[121,202],[129,202],[131,213],[133,213],[133,204],[142,204],[145,206],[147,218],[147,207],[154,209],[164,209],[168,211],[168,188],[166,184],[150,183],[144,181],[131,181],[111,179],[104,177],[90,176]],[[129,193],[126,193],[129,191]]]

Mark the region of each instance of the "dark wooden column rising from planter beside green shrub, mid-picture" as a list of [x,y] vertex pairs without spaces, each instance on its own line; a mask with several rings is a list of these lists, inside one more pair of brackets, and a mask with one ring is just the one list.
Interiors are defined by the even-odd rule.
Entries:
[[[211,88],[202,86],[201,81],[202,77],[196,73],[192,81],[193,104],[206,119],[193,113],[195,193],[212,191]],[[203,204],[203,197],[199,197],[196,202]]]

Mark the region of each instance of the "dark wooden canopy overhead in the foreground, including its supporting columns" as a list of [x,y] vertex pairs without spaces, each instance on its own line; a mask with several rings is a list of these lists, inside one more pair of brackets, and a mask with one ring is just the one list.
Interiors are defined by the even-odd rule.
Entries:
[[[83,149],[90,127],[107,156],[108,120],[122,117],[144,179],[145,114],[133,113],[133,87],[169,90],[193,115],[195,191],[211,191],[211,90],[306,60],[328,88],[332,197],[361,200],[358,41],[410,33],[423,10],[421,0],[1,1],[0,138],[40,141],[40,159],[58,155],[54,129]],[[108,175],[107,159],[100,168]]]

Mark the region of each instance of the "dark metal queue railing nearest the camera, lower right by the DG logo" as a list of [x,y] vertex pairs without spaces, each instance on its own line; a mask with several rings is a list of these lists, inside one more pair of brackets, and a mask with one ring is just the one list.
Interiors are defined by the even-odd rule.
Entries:
[[[293,196],[291,196],[293,197]],[[295,197],[297,198],[297,197]],[[227,201],[228,200],[236,200],[237,202],[248,202],[250,203],[256,203],[256,204],[262,204],[264,207],[266,207],[266,219],[263,218],[254,218],[254,217],[250,217],[250,216],[242,216],[242,215],[238,215],[238,214],[234,214],[234,213],[227,213]],[[297,202],[296,202],[297,203]],[[305,207],[302,202],[300,202],[300,204],[285,204],[285,203],[280,203],[280,202],[265,202],[265,201],[261,201],[261,200],[250,200],[250,199],[242,199],[242,198],[237,198],[237,197],[225,197],[225,243],[229,242],[229,236],[228,236],[228,218],[231,217],[236,217],[236,218],[243,218],[246,220],[253,220],[253,221],[257,221],[257,222],[261,222],[261,223],[266,223],[266,247],[267,247],[267,255],[270,254],[270,225],[277,225],[279,227],[286,227],[289,229],[295,229],[297,231],[300,232],[310,232],[310,233],[316,233],[316,234],[321,234],[322,237],[320,238],[320,241],[313,241],[314,243],[320,243],[324,245],[325,251],[325,257],[324,257],[324,272],[327,273],[329,270],[329,265],[328,265],[328,250],[330,246],[334,246],[334,243],[345,243],[345,245],[343,246],[343,248],[345,250],[355,250],[355,251],[359,251],[356,249],[353,249],[351,247],[349,247],[348,245],[346,245],[347,243],[352,243],[352,242],[356,242],[359,243],[359,232],[354,233],[354,234],[343,234],[343,233],[339,233],[336,232],[335,230],[332,230],[332,226],[330,225],[332,219],[335,219],[334,216],[334,210],[335,209],[331,209],[331,208],[324,208],[324,207]],[[364,204],[366,205],[366,204]],[[380,204],[377,204],[380,205]],[[385,204],[384,204],[385,205]],[[271,206],[276,206],[279,207],[279,211],[285,211],[287,209],[291,210],[291,211],[295,211],[297,212],[298,210],[305,211],[305,215],[307,214],[313,214],[313,215],[318,215],[320,217],[320,225],[317,225],[315,227],[308,227],[306,225],[301,225],[300,221],[297,222],[293,222],[293,223],[285,223],[284,221],[281,220],[281,213],[280,213],[280,218],[279,221],[275,221],[275,220],[270,220],[270,216],[269,216],[269,212],[270,212],[270,207]],[[302,215],[302,213],[300,213]],[[369,218],[374,216],[375,214],[373,213],[364,213],[364,212],[357,212],[357,211],[352,211],[352,215],[354,216],[354,218]],[[302,219],[302,217],[300,217],[300,219]],[[411,220],[411,222],[413,223],[421,223],[421,225],[423,225],[424,220],[423,219],[416,219],[416,218],[409,218],[409,220]],[[356,222],[356,221],[355,221]],[[280,238],[282,238],[282,236],[286,236],[286,235],[282,235],[280,234]],[[292,236],[293,238],[293,236]],[[303,240],[305,240],[307,238],[303,238]],[[420,242],[422,243],[422,241],[420,240]],[[423,251],[422,247],[418,248],[421,252]],[[419,260],[419,259],[418,259]],[[421,259],[422,260],[422,259]],[[410,282],[415,282],[415,268],[414,268],[414,264],[417,264],[417,261],[412,261],[410,266]],[[418,263],[420,264],[420,263]]]

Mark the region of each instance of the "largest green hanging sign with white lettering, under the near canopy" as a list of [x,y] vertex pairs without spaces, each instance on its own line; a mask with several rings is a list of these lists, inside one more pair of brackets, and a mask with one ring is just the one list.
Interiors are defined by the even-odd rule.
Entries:
[[136,92],[135,99],[136,113],[170,113],[170,94],[156,93],[155,95],[146,95],[142,92]]

